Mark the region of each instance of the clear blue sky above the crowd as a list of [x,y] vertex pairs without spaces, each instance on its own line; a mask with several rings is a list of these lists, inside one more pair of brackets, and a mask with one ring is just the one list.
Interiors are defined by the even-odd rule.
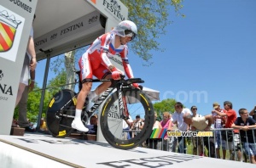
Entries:
[[[212,104],[232,102],[233,109],[256,105],[256,1],[184,0],[180,10],[170,10],[166,34],[157,40],[164,52],[151,51],[153,62],[129,53],[135,77],[144,87],[160,92],[160,101],[174,98],[201,115],[211,114]],[[36,81],[44,64],[38,64]],[[40,70],[42,69],[42,70]],[[40,72],[41,71],[41,72]]]

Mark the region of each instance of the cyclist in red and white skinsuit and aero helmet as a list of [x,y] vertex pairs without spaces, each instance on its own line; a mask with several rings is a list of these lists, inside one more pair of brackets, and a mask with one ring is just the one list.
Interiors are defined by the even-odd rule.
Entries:
[[[88,132],[81,120],[81,113],[84,107],[85,98],[88,96],[89,101],[96,98],[99,94],[106,91],[111,86],[111,82],[105,81],[94,92],[90,92],[92,86],[92,76],[98,79],[113,79],[119,80],[120,75],[124,72],[118,70],[111,64],[108,58],[120,55],[125,74],[129,78],[133,78],[131,66],[128,62],[127,43],[137,35],[137,26],[130,20],[121,21],[112,31],[99,36],[91,45],[90,48],[79,59],[80,79],[83,86],[78,95],[76,105],[76,113],[72,123],[72,127],[81,132]],[[133,87],[138,88],[137,83],[133,83]],[[90,93],[90,95],[88,95]]]

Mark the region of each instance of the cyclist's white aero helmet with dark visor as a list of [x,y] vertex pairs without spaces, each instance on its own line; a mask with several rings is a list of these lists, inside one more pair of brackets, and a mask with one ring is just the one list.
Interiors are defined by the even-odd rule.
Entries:
[[124,20],[113,28],[113,31],[119,36],[131,36],[131,40],[137,35],[137,26],[130,20]]

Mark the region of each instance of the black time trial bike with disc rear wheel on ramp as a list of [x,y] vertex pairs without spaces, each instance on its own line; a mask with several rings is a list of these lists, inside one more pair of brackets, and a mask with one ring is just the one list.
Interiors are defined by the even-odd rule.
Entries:
[[[76,73],[79,75],[79,71]],[[150,99],[142,90],[132,87],[132,83],[144,81],[140,78],[125,79],[125,76],[119,81],[92,80],[92,82],[102,81],[112,82],[112,87],[109,87],[88,111],[85,110],[89,105],[88,98],[86,99],[81,116],[84,126],[89,123],[90,116],[100,109],[99,124],[106,141],[114,148],[137,147],[150,137],[154,125],[154,109]],[[82,82],[79,80],[79,90],[81,87]],[[62,89],[51,98],[46,111],[46,124],[53,137],[68,137],[73,132],[71,124],[75,115],[77,96],[78,94],[72,90]],[[104,103],[102,108],[99,108],[102,103]],[[125,120],[130,117],[135,118],[137,115],[143,119],[143,129],[137,132],[136,137],[124,138],[124,134],[127,133],[123,127]]]

